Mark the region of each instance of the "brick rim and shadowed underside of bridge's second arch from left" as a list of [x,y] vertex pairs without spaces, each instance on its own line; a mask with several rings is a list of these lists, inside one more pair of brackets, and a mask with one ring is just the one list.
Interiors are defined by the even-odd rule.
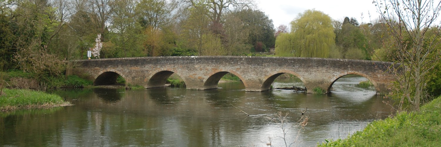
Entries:
[[164,87],[165,83],[167,82],[167,78],[170,77],[170,75],[172,75],[173,73],[179,75],[184,83],[187,83],[185,77],[172,68],[160,68],[154,71],[153,75],[148,76],[144,81],[147,81],[147,88]]

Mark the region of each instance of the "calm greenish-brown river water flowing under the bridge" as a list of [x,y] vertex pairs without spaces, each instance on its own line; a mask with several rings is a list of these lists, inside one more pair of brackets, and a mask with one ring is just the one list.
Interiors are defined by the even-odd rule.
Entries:
[[[279,147],[286,141],[316,146],[325,139],[345,138],[391,113],[382,102],[389,100],[373,88],[355,87],[360,80],[366,79],[340,78],[324,95],[246,92],[241,82],[219,83],[221,88],[213,90],[53,90],[74,106],[0,113],[0,145]],[[302,84],[278,79],[273,87]],[[308,123],[302,128],[297,121],[306,107]],[[278,112],[288,113],[284,123],[277,119]]]

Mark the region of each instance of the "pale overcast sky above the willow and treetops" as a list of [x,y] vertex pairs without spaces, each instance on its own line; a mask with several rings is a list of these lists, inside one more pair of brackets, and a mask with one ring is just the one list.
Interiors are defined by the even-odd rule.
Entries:
[[[274,27],[289,23],[299,13],[308,9],[322,11],[332,19],[343,21],[344,17],[354,17],[359,23],[370,22],[370,19],[378,18],[378,13],[373,0],[257,0],[258,8],[273,19]],[[370,12],[370,19],[369,14]]]

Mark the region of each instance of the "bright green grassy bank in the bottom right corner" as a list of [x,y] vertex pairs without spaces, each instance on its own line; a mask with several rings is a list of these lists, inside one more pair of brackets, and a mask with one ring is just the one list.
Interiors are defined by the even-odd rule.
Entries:
[[319,146],[436,147],[441,142],[441,97],[421,107],[420,112],[401,112],[393,118],[374,121],[347,139]]

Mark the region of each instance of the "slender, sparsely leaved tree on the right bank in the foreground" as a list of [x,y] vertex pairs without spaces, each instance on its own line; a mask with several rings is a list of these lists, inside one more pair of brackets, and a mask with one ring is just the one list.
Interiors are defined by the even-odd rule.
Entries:
[[[441,1],[375,0],[374,4],[390,30],[391,43],[385,49],[396,63],[389,68],[399,86],[400,104],[407,100],[419,111],[426,74],[440,59],[436,46],[440,43],[441,24],[437,19]],[[430,29],[435,30],[434,37],[427,37]]]

